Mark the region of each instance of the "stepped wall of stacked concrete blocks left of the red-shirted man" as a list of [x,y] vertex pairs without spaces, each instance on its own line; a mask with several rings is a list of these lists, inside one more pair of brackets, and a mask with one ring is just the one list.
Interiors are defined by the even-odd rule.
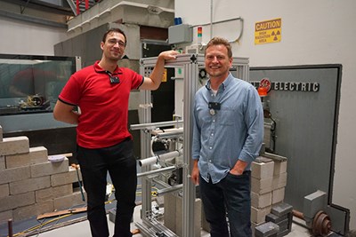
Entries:
[[84,204],[77,171],[69,160],[48,162],[44,146],[29,147],[27,137],[3,138],[0,126],[0,224]]

